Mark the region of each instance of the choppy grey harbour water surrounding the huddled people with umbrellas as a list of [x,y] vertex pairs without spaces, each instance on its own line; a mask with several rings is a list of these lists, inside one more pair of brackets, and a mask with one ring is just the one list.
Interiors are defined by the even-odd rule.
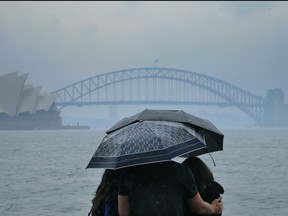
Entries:
[[[223,216],[288,215],[288,129],[225,129],[200,156],[224,188]],[[0,131],[0,215],[87,215],[102,169],[85,169],[99,130]],[[182,159],[177,158],[181,161]]]

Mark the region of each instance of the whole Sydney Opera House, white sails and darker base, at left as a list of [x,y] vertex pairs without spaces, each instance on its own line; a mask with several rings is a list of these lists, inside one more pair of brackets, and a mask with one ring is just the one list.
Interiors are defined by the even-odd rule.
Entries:
[[59,129],[62,126],[57,95],[26,85],[28,74],[0,76],[0,130]]

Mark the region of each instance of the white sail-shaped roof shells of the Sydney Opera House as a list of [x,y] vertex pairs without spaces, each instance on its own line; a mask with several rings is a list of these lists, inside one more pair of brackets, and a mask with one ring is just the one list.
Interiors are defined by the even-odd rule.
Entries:
[[54,105],[57,95],[41,93],[41,86],[25,85],[28,74],[11,72],[0,76],[0,114],[10,117],[21,113],[30,115],[37,111],[48,111]]

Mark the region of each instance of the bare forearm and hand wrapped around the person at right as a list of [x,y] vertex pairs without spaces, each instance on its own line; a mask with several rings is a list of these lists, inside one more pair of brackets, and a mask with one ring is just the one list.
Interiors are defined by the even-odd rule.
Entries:
[[199,193],[191,199],[186,200],[191,211],[195,211],[198,214],[210,215],[220,214],[223,210],[223,203],[221,198],[213,200],[211,204],[204,202]]

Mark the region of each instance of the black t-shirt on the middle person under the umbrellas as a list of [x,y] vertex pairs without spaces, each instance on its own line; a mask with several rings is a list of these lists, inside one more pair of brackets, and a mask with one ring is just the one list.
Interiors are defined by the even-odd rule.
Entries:
[[133,216],[182,216],[197,192],[191,170],[174,161],[126,168],[118,190],[129,196]]

